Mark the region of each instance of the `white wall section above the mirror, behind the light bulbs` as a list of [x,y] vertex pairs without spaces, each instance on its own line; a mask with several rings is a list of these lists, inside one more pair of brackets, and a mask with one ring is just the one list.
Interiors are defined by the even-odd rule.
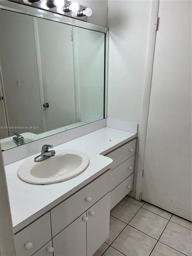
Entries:
[[71,0],[73,1],[92,9],[93,13],[87,19],[89,23],[107,27],[107,0]]

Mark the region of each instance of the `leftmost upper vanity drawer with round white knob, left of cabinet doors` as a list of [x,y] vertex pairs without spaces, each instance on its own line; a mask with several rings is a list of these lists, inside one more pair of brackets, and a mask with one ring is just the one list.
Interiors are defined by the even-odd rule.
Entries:
[[[48,212],[14,236],[16,254],[31,256],[51,239],[51,218]],[[30,250],[26,249],[26,242],[33,244]]]

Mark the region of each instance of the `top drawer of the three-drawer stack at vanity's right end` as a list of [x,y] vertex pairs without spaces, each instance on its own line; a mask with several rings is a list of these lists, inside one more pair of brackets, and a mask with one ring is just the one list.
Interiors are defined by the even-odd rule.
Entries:
[[113,159],[113,163],[111,164],[111,169],[114,169],[119,164],[121,164],[131,156],[135,155],[136,140],[137,139],[131,140],[128,143],[120,146],[117,149],[114,149],[112,152],[105,155]]

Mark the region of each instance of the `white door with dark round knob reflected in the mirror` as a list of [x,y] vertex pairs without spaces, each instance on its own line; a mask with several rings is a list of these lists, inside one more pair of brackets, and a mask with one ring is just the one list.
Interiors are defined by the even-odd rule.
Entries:
[[[47,131],[76,123],[72,26],[38,19]],[[43,107],[43,106],[41,106]]]

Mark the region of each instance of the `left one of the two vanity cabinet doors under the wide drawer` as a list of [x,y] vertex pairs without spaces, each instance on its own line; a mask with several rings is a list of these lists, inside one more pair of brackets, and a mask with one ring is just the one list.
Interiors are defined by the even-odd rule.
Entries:
[[54,256],[86,256],[86,222],[82,217],[73,221],[53,238]]

